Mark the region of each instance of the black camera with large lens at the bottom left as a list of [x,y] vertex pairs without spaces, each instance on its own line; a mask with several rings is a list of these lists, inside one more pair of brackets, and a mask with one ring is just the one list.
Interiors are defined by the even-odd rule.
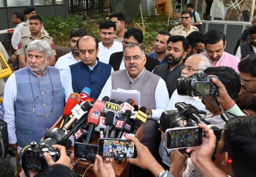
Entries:
[[44,135],[44,140],[39,144],[33,141],[26,146],[22,152],[22,168],[32,170],[43,170],[48,166],[44,159],[44,152],[48,152],[53,161],[59,160],[59,150],[52,148],[53,144],[65,146],[65,132],[62,129],[54,128]]

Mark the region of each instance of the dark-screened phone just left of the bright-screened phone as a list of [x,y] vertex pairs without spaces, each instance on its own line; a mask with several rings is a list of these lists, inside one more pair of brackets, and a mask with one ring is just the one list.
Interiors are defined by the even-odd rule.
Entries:
[[94,163],[95,156],[98,152],[98,145],[92,145],[88,143],[75,143],[75,157],[81,158],[81,160]]

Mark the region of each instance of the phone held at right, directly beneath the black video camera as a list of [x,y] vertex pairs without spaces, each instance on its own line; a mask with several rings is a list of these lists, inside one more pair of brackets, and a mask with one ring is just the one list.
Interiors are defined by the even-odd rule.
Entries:
[[166,129],[166,148],[181,149],[201,145],[203,130],[196,127]]

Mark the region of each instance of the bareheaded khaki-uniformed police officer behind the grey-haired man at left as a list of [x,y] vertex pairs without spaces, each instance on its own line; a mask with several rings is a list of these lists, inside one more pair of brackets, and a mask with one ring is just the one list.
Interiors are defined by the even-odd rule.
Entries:
[[21,40],[18,42],[18,51],[17,54],[19,55],[20,67],[24,68],[27,66],[26,63],[26,54],[27,54],[27,46],[28,43],[32,42],[33,40],[45,40],[51,46],[51,58],[48,60],[47,65],[54,66],[55,65],[55,45],[53,43],[53,38],[50,36],[46,36],[42,34],[42,18],[39,15],[32,15],[30,17],[30,34],[22,36]]

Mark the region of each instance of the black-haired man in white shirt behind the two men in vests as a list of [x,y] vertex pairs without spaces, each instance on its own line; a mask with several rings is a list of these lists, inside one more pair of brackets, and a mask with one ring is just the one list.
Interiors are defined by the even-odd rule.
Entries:
[[116,29],[117,25],[113,21],[100,22],[101,42],[98,44],[98,58],[100,62],[108,64],[111,54],[123,51],[122,44],[114,40],[117,34]]

